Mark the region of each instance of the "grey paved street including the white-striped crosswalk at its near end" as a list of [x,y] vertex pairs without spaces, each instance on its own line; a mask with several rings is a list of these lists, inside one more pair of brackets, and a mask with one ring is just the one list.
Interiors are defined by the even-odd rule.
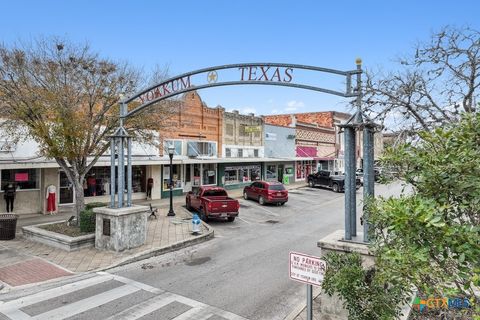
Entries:
[[343,227],[343,199],[301,188],[285,206],[241,200],[234,223],[210,222],[211,241],[2,297],[0,319],[284,319],[305,301],[305,285],[288,278],[288,253],[318,255],[316,241]]

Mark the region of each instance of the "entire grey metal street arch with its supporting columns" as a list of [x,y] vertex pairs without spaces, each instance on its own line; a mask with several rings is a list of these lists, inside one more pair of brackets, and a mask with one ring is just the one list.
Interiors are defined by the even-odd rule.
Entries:
[[[227,64],[216,67],[203,68],[196,71],[187,72],[179,76],[167,79],[159,84],[153,85],[145,90],[135,93],[120,101],[120,126],[111,137],[111,168],[110,178],[117,181],[118,200],[115,204],[115,192],[110,193],[110,207],[122,208],[124,206],[125,190],[125,157],[127,158],[127,199],[126,205],[132,205],[132,137],[128,135],[123,127],[126,118],[133,116],[146,107],[153,105],[161,100],[193,91],[198,89],[232,86],[232,85],[274,85],[306,89],[311,91],[323,92],[340,97],[356,97],[357,112],[345,124],[338,125],[345,132],[345,238],[346,241],[355,241],[357,235],[356,227],[356,159],[355,159],[355,141],[356,131],[364,131],[364,198],[374,196],[373,184],[373,132],[375,124],[365,117],[361,110],[362,100],[362,61],[356,60],[356,70],[341,71],[335,69],[321,68],[300,64],[284,63],[240,63]],[[240,72],[239,79],[231,81],[218,81],[218,71],[226,69],[237,69]],[[322,73],[329,73],[345,77],[346,88],[344,92],[330,90],[314,85],[292,83],[294,80],[294,70],[311,70]],[[207,83],[192,84],[191,77],[207,73]],[[296,73],[295,73],[296,74]],[[352,87],[352,76],[355,78],[355,88]],[[238,75],[237,75],[238,76]],[[128,111],[128,104],[139,99],[141,104]],[[367,119],[367,121],[364,121]],[[125,156],[125,146],[127,154]],[[118,154],[118,176],[115,175],[116,154]],[[117,179],[116,179],[117,178]],[[170,185],[170,187],[172,187]],[[368,212],[364,211],[364,242],[368,242]]]

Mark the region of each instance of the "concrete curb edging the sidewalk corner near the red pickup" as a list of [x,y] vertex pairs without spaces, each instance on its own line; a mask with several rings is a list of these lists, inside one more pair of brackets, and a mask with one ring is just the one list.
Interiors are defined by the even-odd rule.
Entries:
[[[183,207],[181,207],[181,208],[186,213],[188,213],[190,216],[192,216],[190,211],[186,210]],[[148,259],[148,258],[156,257],[156,256],[159,256],[159,255],[162,255],[162,254],[165,254],[165,253],[177,251],[177,250],[180,250],[180,249],[183,249],[183,248],[186,248],[186,247],[189,247],[189,246],[192,246],[192,245],[195,245],[195,244],[199,244],[199,243],[202,243],[202,242],[205,242],[205,241],[208,241],[208,240],[212,239],[214,237],[213,228],[203,221],[202,221],[202,225],[204,226],[205,229],[207,229],[207,232],[197,236],[196,238],[177,241],[177,242],[174,242],[174,243],[172,243],[168,246],[146,250],[146,251],[137,253],[137,254],[135,254],[131,257],[127,257],[124,260],[119,261],[117,263],[114,263],[114,264],[112,264],[108,267],[102,267],[102,268],[98,268],[98,269],[95,269],[95,270],[92,270],[92,271],[88,271],[88,273],[105,271],[105,270],[113,269],[115,267],[124,266],[124,265],[130,264],[130,263],[133,263],[133,262],[137,262],[137,261],[145,260],[145,259]]]

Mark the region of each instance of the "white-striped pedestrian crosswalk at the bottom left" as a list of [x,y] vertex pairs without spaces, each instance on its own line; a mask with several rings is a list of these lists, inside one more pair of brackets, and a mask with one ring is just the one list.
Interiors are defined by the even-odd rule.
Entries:
[[93,277],[0,302],[0,319],[247,320],[231,312],[128,278]]

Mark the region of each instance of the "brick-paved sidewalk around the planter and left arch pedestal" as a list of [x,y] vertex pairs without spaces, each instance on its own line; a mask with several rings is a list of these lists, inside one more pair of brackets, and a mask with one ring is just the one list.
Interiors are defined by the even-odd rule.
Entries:
[[[287,185],[288,189],[305,186],[305,182]],[[229,190],[232,198],[242,197],[243,189]],[[22,216],[17,223],[14,240],[0,241],[0,292],[12,287],[43,282],[81,272],[100,271],[114,266],[147,259],[196,243],[214,236],[213,229],[203,223],[201,234],[191,234],[191,213],[184,208],[185,197],[174,197],[175,217],[167,217],[169,199],[138,200],[134,204],[158,208],[157,219],[149,219],[145,245],[123,252],[100,251],[85,248],[67,252],[41,243],[28,241],[21,234],[21,227],[52,221],[65,221],[72,213],[54,216],[31,214]],[[241,214],[241,213],[240,213]]]

